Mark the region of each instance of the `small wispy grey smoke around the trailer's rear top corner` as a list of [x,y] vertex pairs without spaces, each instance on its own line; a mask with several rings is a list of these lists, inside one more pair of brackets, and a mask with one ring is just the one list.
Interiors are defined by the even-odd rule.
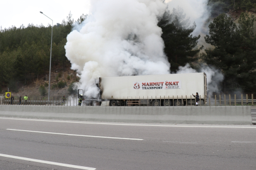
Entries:
[[[194,73],[197,72],[195,69],[192,69],[189,64],[186,64],[184,67],[178,67],[178,74],[185,73]],[[212,96],[212,93],[219,93],[221,88],[219,87],[220,83],[223,81],[224,76],[221,74],[221,71],[215,69],[214,67],[209,67],[203,65],[199,72],[205,72],[207,76],[207,94]]]

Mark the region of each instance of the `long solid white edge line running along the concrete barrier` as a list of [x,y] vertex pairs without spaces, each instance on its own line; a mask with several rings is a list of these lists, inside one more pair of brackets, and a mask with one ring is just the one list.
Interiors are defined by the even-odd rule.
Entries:
[[37,122],[57,122],[57,123],[81,123],[81,124],[92,124],[92,125],[120,125],[120,126],[137,126],[137,127],[190,127],[190,128],[256,128],[252,126],[248,127],[234,127],[234,126],[209,126],[209,125],[142,125],[142,124],[125,124],[125,123],[96,123],[96,122],[70,122],[61,120],[34,120],[24,118],[0,118],[9,120],[25,120],[25,121],[37,121]]

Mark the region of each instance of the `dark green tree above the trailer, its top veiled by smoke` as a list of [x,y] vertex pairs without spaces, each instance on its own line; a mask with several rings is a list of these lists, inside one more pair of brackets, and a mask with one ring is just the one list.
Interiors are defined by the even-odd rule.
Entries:
[[173,13],[166,12],[158,23],[163,31],[161,37],[165,43],[165,54],[171,64],[170,70],[176,72],[179,66],[197,60],[194,56],[199,52],[195,49],[199,36],[192,35],[195,23],[190,21],[183,13],[183,9],[173,9]]

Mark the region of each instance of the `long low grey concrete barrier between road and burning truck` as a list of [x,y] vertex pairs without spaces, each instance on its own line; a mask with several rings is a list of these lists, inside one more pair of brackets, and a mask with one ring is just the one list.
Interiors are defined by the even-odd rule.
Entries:
[[0,116],[129,123],[251,125],[250,106],[12,106]]

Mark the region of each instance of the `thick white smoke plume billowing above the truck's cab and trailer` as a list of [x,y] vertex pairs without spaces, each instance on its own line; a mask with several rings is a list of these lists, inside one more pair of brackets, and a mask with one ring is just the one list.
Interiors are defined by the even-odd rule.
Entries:
[[65,46],[78,88],[96,97],[98,77],[169,74],[157,26],[165,9],[161,0],[91,0],[89,17]]

